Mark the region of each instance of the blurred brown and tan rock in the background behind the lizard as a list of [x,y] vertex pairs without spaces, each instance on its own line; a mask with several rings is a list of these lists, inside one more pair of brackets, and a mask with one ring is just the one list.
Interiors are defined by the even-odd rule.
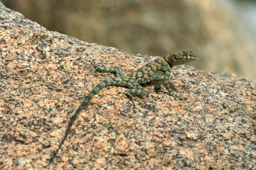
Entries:
[[256,79],[256,35],[239,1],[1,1],[49,30],[80,40],[152,56],[192,50],[201,56],[191,64],[198,69]]

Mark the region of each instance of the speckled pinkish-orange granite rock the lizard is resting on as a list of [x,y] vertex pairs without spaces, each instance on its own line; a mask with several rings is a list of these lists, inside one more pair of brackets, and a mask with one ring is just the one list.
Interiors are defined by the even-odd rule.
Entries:
[[[0,11],[0,169],[43,169],[84,97],[113,77],[86,70],[90,63],[130,73],[156,57],[48,31],[1,4]],[[253,83],[183,65],[169,79],[188,97],[180,101],[162,80],[134,101],[122,87],[100,91],[49,169],[256,169]]]

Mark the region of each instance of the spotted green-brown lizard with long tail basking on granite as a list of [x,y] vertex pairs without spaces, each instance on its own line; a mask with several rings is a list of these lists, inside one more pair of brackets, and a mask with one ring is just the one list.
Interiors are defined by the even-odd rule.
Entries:
[[136,71],[131,72],[128,75],[125,75],[119,68],[111,68],[106,66],[101,67],[99,65],[93,65],[96,67],[93,70],[101,72],[111,72],[114,73],[116,77],[103,80],[98,85],[96,85],[92,91],[90,91],[88,96],[84,99],[79,108],[71,117],[64,138],[58,145],[57,150],[55,150],[55,152],[53,153],[47,166],[52,163],[58,151],[61,149],[62,144],[64,144],[64,141],[67,139],[71,127],[74,121],[76,120],[77,116],[81,112],[81,110],[88,105],[89,101],[93,98],[93,96],[97,94],[102,88],[105,88],[110,85],[128,87],[129,89],[125,90],[124,95],[128,96],[132,100],[133,96],[148,96],[148,92],[145,91],[141,84],[149,82],[159,76],[164,75],[163,82],[169,94],[179,99],[186,99],[182,96],[182,94],[177,94],[174,91],[172,91],[168,79],[170,77],[171,69],[174,65],[182,65],[186,62],[195,61],[198,59],[199,57],[195,55],[192,51],[175,52],[167,56],[161,57],[159,59],[155,59],[151,62],[148,62],[148,64],[144,65]]

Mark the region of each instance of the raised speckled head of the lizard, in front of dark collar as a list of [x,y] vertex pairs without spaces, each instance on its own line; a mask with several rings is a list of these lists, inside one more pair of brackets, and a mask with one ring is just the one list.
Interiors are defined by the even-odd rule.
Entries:
[[198,60],[199,57],[192,51],[179,51],[170,56],[170,62],[173,65],[182,65],[184,63]]

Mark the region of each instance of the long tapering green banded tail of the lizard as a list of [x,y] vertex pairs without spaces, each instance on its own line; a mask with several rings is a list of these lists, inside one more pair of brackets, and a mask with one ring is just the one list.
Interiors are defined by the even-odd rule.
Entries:
[[109,85],[120,85],[120,81],[122,81],[121,79],[118,79],[116,77],[110,78],[110,79],[105,79],[102,82],[100,82],[98,85],[95,86],[95,88],[93,88],[93,90],[88,94],[88,96],[86,97],[86,99],[84,99],[84,101],[81,103],[81,105],[79,106],[79,108],[76,110],[76,112],[74,113],[74,115],[71,117],[70,122],[68,124],[66,133],[64,135],[64,138],[61,140],[61,143],[58,145],[58,149],[55,150],[55,152],[53,153],[52,157],[49,160],[49,163],[47,164],[46,167],[49,166],[49,164],[52,163],[53,159],[55,158],[55,156],[57,155],[58,151],[61,149],[62,144],[65,142],[65,140],[67,139],[67,135],[69,134],[71,127],[74,123],[74,121],[76,120],[78,114],[81,112],[82,109],[84,109],[85,106],[87,106],[87,104],[90,102],[90,100],[93,98],[93,96],[95,94],[97,94],[102,88],[105,88]]

